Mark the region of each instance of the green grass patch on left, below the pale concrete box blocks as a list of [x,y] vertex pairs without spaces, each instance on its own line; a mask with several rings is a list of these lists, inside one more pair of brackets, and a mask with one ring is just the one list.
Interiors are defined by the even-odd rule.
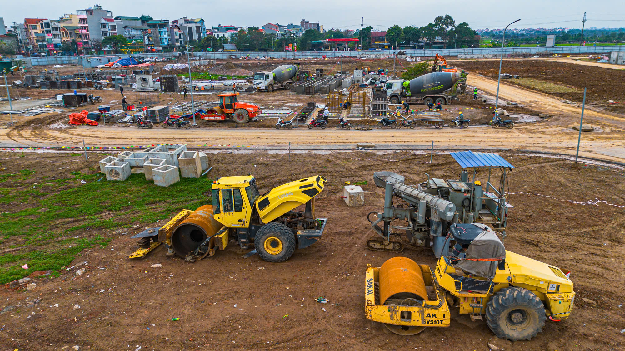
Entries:
[[[22,170],[10,180],[33,174]],[[18,189],[3,186],[0,179],[0,242],[21,248],[0,255],[0,284],[34,270],[58,272],[82,250],[108,244],[116,229],[157,220],[162,223],[183,208],[194,210],[211,202],[211,181],[206,178],[185,178],[169,187],[159,187],[146,181],[143,174],[132,174],[123,182],[108,182],[103,174],[73,172],[68,179],[46,184],[54,189],[71,187],[45,192],[39,189],[40,183],[34,189]],[[12,213],[15,205],[11,203],[20,204],[21,210]],[[83,232],[88,235],[84,237]],[[29,269],[22,269],[24,264]]]

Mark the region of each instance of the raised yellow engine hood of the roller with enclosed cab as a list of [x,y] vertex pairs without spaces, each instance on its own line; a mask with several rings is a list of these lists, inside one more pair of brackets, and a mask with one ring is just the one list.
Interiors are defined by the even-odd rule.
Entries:
[[313,175],[271,189],[256,200],[260,219],[263,223],[269,223],[299,205],[306,204],[323,190],[325,182],[325,177]]

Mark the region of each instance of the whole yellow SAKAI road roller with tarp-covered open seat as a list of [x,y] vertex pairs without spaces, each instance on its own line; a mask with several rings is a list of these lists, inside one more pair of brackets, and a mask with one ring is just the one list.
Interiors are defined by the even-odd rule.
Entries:
[[567,319],[575,292],[558,267],[504,249],[484,224],[453,224],[446,237],[452,250],[434,272],[406,257],[382,267],[367,265],[365,312],[399,335],[425,327],[449,327],[449,305],[471,320],[482,320],[497,337],[530,340],[545,320]]

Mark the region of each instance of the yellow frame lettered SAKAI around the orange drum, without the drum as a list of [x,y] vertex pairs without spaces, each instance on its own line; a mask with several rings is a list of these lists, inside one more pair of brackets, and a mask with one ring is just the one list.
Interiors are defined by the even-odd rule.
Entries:
[[449,327],[451,314],[445,293],[438,291],[432,282],[432,270],[428,265],[419,265],[426,285],[434,287],[436,300],[424,300],[421,305],[382,305],[376,301],[374,284],[379,282],[380,267],[367,265],[365,274],[365,314],[367,319],[392,325]]

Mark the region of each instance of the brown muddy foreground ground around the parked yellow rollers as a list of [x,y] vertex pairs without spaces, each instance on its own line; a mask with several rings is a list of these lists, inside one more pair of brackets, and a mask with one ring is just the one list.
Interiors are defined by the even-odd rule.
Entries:
[[[372,182],[374,171],[394,171],[414,184],[432,177],[454,179],[460,172],[451,156],[412,152],[329,152],[286,154],[234,151],[211,154],[214,169],[209,179],[251,173],[261,192],[274,184],[312,174],[328,178],[317,195],[317,216],[327,217],[320,242],[296,250],[279,264],[257,255],[242,259],[246,251],[234,243],[214,257],[196,263],[165,255],[159,247],[145,259],[129,260],[136,248],[133,234],[143,230],[130,226],[121,232],[100,233],[112,239],[106,247],[84,250],[73,265],[87,261],[86,272],[77,277],[63,270],[56,278],[36,279],[31,291],[2,289],[0,344],[3,349],[61,350],[79,345],[81,350],[488,350],[491,342],[506,350],[621,350],[625,337],[622,286],[625,173],[607,167],[574,164],[561,159],[516,155],[501,156],[516,168],[510,174],[508,250],[571,270],[577,292],[569,319],[547,322],[531,341],[497,340],[484,322],[452,314],[451,327],[429,328],[404,337],[386,334],[381,325],[364,317],[364,270],[379,266],[398,254],[365,248],[372,234],[365,217],[381,210],[382,189]],[[44,154],[32,153],[4,161],[9,169],[39,164]],[[66,169],[44,166],[37,177],[67,177],[69,172],[95,173],[91,160],[106,154],[93,153],[89,161],[71,159]],[[16,157],[4,152],[1,158]],[[31,158],[33,157],[33,158]],[[479,172],[477,179],[486,180]],[[206,180],[206,187],[209,186]],[[366,205],[350,208],[339,197],[347,180],[366,191]],[[185,181],[184,179],[182,180]],[[71,185],[70,185],[71,186]],[[81,186],[76,184],[73,186]],[[198,189],[202,196],[206,189]],[[527,193],[527,194],[526,194]],[[587,203],[596,200],[597,204]],[[9,205],[0,211],[11,212]],[[172,214],[174,215],[174,214]],[[66,225],[79,225],[81,219]],[[156,224],[156,223],[155,223]],[[153,225],[146,225],[151,227]],[[126,234],[128,232],[128,234]],[[89,229],[75,235],[95,235]],[[434,267],[431,250],[413,247],[401,255]],[[160,263],[163,267],[153,268]],[[329,304],[314,302],[326,297]],[[29,301],[41,299],[32,306]],[[56,305],[58,304],[58,305]],[[80,307],[75,309],[74,305]],[[56,307],[58,306],[58,307]],[[322,308],[326,309],[322,310]],[[452,310],[457,311],[452,308]],[[27,318],[29,317],[29,318]],[[179,318],[173,321],[173,318]]]

